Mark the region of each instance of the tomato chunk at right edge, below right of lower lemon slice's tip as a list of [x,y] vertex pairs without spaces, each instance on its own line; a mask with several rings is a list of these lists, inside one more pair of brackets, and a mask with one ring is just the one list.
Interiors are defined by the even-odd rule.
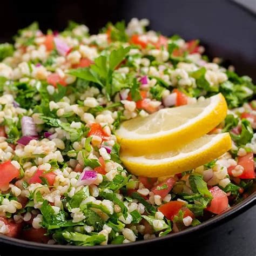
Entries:
[[[244,167],[244,172],[238,178],[240,179],[255,179],[254,159],[253,153],[249,152],[245,156],[238,157],[238,165]],[[235,166],[228,167],[227,171],[230,176]]]

